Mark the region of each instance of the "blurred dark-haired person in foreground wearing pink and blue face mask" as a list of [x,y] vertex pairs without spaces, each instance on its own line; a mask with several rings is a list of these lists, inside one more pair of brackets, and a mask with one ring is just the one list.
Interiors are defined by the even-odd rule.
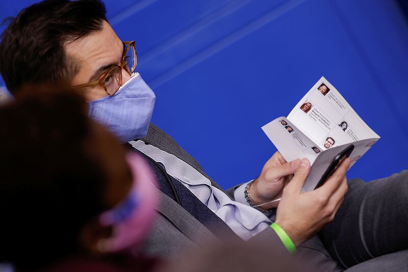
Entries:
[[0,128],[0,263],[17,271],[156,266],[137,251],[155,215],[152,173],[88,118],[82,96],[17,96],[0,108]]

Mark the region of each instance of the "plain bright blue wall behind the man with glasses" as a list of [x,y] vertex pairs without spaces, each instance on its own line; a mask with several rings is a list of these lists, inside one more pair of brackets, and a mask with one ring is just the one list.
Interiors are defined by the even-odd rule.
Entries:
[[[0,17],[35,2],[2,1]],[[408,168],[408,26],[396,2],[105,3],[119,37],[136,40],[139,72],[158,97],[152,121],[224,188],[259,174],[275,152],[261,126],[321,76],[382,137],[348,177]]]

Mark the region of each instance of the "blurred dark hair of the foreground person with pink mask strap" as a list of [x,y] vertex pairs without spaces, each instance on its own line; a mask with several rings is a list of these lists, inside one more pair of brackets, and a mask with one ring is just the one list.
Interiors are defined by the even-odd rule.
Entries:
[[80,230],[107,208],[86,111],[55,90],[0,108],[0,263],[25,270],[78,252]]

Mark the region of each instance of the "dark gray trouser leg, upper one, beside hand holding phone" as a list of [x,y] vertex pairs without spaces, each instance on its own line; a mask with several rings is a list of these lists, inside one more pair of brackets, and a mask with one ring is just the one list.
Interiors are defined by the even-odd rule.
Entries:
[[408,249],[408,171],[348,186],[335,219],[320,232],[330,255],[350,267]]

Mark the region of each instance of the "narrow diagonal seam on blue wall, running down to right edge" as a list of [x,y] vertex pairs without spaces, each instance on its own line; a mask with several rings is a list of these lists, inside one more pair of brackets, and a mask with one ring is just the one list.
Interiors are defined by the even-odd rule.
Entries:
[[390,111],[392,114],[397,118],[398,121],[401,121],[404,123],[403,126],[401,126],[401,130],[405,134],[405,136],[408,137],[408,121],[405,120],[404,115],[398,110],[398,108],[394,105],[394,102],[391,100],[391,95],[389,91],[387,90],[387,84],[385,84],[380,77],[379,72],[376,70],[374,67],[374,64],[370,61],[370,58],[367,56],[363,45],[361,44],[358,35],[354,33],[352,30],[346,16],[342,12],[340,6],[336,3],[336,1],[329,1],[329,4],[331,7],[333,7],[333,10],[337,13],[337,16],[339,17],[340,21],[342,21],[342,27],[344,28],[345,32],[350,38],[351,43],[353,44],[355,50],[357,51],[358,55],[362,59],[362,61],[365,63],[366,68],[371,75],[372,80],[374,83],[377,85],[379,92],[381,95],[384,97],[384,101],[387,103],[387,105],[390,107]]

